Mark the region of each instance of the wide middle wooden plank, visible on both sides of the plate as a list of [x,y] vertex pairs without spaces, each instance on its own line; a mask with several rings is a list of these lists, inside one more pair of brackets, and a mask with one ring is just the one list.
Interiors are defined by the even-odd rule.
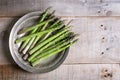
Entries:
[[[18,18],[17,18],[18,19]],[[17,19],[0,18],[0,64],[9,64],[9,28]],[[67,18],[70,20],[71,18]],[[119,63],[120,18],[74,18],[72,30],[79,33],[79,41],[70,49],[64,64]]]

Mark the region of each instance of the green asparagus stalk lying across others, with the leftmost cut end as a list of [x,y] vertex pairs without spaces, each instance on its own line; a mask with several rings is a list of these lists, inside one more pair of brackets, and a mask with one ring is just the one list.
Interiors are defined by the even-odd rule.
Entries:
[[48,32],[50,32],[50,31],[55,31],[55,30],[57,30],[57,29],[59,29],[59,27],[57,27],[57,28],[50,28],[50,29],[47,29],[47,30],[43,30],[43,31],[41,31],[41,32],[37,32],[37,33],[34,33],[34,34],[30,34],[30,35],[28,35],[28,36],[24,36],[24,37],[21,37],[21,38],[17,39],[17,40],[15,41],[15,43],[20,43],[20,42],[25,41],[25,40],[27,40],[27,39],[29,39],[29,38],[34,37],[34,36],[43,35],[43,34],[45,34],[45,33],[48,33]]

